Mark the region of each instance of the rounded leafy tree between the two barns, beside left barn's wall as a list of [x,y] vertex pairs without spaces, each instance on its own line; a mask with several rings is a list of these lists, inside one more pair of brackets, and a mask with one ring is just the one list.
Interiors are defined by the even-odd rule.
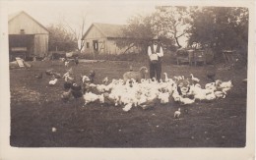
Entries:
[[49,30],[49,50],[70,51],[76,48],[76,41],[73,35],[62,25],[47,27]]

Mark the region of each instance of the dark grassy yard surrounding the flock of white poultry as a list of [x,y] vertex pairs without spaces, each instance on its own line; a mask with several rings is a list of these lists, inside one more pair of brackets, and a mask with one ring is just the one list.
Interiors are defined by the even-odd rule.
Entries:
[[[120,79],[132,65],[134,70],[146,62],[96,62],[74,66],[80,75],[96,71],[95,83],[104,77]],[[64,74],[64,64],[32,62],[31,69],[10,70],[12,146],[19,147],[243,147],[246,141],[246,70],[219,70],[217,79],[233,80],[233,87],[224,99],[197,102],[188,106],[179,120],[173,113],[179,104],[157,105],[149,110],[133,107],[124,112],[121,107],[92,103],[85,107],[84,99],[64,103],[60,94],[63,81],[49,86],[49,77],[41,80],[34,74],[54,69]],[[188,77],[190,73],[204,85],[209,82],[204,66],[162,66],[162,73]],[[78,114],[75,116],[75,105]],[[181,106],[181,111],[183,108]],[[56,132],[52,132],[52,128]]]

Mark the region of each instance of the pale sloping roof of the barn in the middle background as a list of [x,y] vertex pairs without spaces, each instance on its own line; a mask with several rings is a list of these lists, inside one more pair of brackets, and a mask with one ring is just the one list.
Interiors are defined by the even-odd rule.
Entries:
[[125,27],[125,25],[94,23],[89,27],[82,39],[87,36],[92,27],[96,27],[105,37],[122,37],[122,28]]

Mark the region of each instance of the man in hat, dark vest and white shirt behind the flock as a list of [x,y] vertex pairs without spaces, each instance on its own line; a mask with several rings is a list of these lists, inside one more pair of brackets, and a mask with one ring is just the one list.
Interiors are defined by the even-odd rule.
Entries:
[[150,78],[157,78],[160,81],[163,51],[158,36],[152,39],[152,44],[148,48],[148,55],[150,57]]

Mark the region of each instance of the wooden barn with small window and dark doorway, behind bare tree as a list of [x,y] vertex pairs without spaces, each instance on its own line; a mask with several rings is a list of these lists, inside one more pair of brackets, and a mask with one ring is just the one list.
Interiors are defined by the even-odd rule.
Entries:
[[[90,54],[121,54],[127,47],[120,48],[116,41],[123,37],[122,25],[111,24],[92,24],[84,34],[82,40],[85,40],[85,53]],[[126,52],[138,52],[138,48],[132,47]]]

